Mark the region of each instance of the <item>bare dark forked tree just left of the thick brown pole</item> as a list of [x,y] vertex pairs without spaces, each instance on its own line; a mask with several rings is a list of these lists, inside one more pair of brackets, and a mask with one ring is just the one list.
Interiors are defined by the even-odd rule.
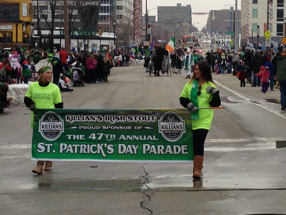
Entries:
[[[54,34],[54,29],[55,29],[55,9],[56,6],[59,3],[59,0],[47,0],[47,5],[48,5],[48,9],[47,10],[43,10],[43,9],[39,9],[41,12],[41,15],[43,16],[43,19],[45,20],[45,23],[48,27],[48,29],[50,30],[51,35],[49,36],[50,38],[50,44],[49,47],[51,50],[53,50],[53,46],[54,46],[54,41],[53,41],[53,34]],[[38,5],[38,7],[40,7],[41,5]]]

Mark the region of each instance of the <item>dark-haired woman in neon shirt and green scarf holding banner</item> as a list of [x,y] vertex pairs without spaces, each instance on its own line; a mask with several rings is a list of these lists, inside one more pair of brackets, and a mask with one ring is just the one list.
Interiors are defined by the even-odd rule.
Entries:
[[197,107],[221,105],[219,90],[212,81],[210,67],[206,62],[195,64],[194,75],[184,86],[180,103],[191,112],[194,145],[193,178],[200,179],[204,161],[204,141],[210,130],[214,112],[212,109],[198,110]]

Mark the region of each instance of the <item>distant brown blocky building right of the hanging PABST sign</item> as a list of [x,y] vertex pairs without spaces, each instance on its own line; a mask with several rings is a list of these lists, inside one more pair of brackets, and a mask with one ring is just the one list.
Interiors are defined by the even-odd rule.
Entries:
[[[234,14],[233,7],[230,9],[211,10],[208,16],[207,29],[211,34],[225,33],[227,31],[234,31]],[[241,20],[241,11],[238,10],[238,20]],[[238,29],[241,29],[241,23],[238,21]]]

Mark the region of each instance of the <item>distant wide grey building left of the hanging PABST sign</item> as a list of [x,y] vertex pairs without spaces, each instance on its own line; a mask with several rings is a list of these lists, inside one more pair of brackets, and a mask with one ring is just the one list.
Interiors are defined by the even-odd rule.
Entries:
[[188,22],[191,26],[191,5],[182,6],[181,3],[177,3],[177,6],[158,6],[158,22],[167,22],[174,25],[182,25],[183,22]]

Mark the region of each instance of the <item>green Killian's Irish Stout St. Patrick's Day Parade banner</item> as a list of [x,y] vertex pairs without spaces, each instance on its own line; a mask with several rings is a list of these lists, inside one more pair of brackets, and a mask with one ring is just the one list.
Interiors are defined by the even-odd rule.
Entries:
[[191,162],[187,109],[37,109],[32,160]]

